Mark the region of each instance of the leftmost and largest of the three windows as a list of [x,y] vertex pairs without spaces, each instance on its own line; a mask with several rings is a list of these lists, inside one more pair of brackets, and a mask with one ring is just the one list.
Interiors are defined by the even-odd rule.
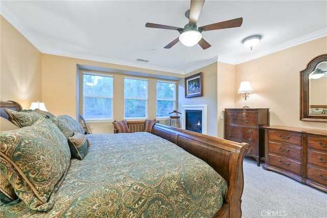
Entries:
[[83,72],[83,115],[86,120],[112,119],[112,76]]

